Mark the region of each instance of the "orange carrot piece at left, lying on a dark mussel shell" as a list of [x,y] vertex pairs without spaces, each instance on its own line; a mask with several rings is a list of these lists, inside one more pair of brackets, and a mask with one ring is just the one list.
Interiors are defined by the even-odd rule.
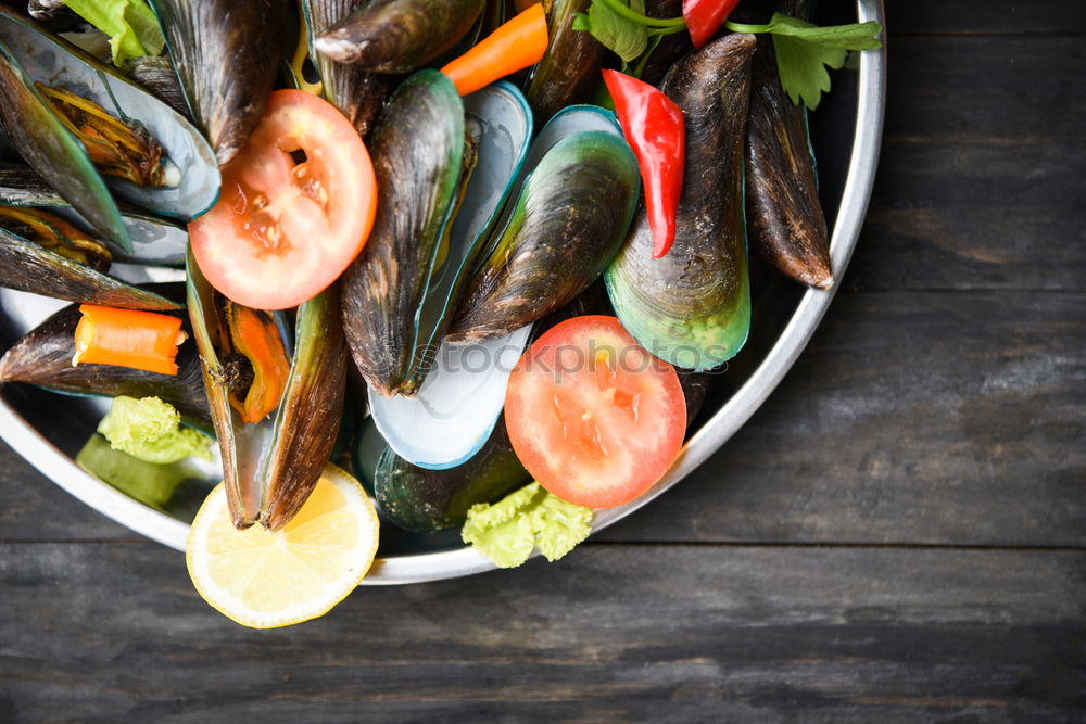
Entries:
[[177,345],[187,338],[178,317],[97,304],[81,304],[79,312],[73,367],[90,363],[177,374]]

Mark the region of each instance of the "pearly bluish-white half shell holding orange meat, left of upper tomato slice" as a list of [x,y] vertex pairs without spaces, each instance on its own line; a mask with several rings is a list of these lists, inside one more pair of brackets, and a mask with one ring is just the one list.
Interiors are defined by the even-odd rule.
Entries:
[[[184,221],[200,216],[215,204],[220,179],[211,148],[200,132],[166,103],[112,67],[13,13],[0,12],[0,42],[9,48],[12,58],[24,71],[23,81],[28,84],[28,91],[37,93],[33,88],[34,82],[70,90],[97,103],[115,118],[143,126],[162,145],[169,163],[180,172],[176,186],[143,187],[117,177],[104,177],[105,183],[118,196],[155,214]],[[25,148],[23,142],[30,143],[31,148],[51,142],[47,139],[51,139],[53,135],[50,132],[49,136],[42,136],[42,132],[31,127],[26,138],[12,140],[22,152]],[[68,138],[78,145],[78,141],[70,134]],[[67,145],[65,142],[65,147]],[[27,157],[27,163],[101,229],[99,223],[83,207],[81,198],[90,192],[83,186],[77,186],[68,193],[65,187],[58,186],[54,178],[76,172],[85,175],[86,158],[86,152],[73,154],[66,149],[63,155],[50,156],[46,163],[36,163],[30,157]],[[86,179],[79,181],[84,182]],[[66,180],[65,183],[70,186],[73,181]],[[113,212],[116,212],[115,205]],[[110,237],[114,238],[112,233]]]

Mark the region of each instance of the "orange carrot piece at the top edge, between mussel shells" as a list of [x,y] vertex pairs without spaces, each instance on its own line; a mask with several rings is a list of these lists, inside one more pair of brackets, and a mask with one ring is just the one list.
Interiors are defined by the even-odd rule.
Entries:
[[498,78],[534,65],[548,42],[543,5],[535,3],[479,41],[441,72],[449,76],[460,96],[489,86]]

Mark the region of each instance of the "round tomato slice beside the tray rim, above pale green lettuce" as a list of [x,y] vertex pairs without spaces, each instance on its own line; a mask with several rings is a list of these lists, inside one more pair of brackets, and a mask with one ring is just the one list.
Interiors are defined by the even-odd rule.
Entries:
[[517,457],[559,498],[589,508],[633,500],[682,447],[686,403],[671,365],[615,317],[574,317],[525,352],[505,424]]

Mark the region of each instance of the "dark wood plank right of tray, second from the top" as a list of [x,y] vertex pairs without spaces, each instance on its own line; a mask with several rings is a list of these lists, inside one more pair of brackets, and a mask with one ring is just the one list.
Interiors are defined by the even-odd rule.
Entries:
[[889,53],[879,177],[847,283],[1086,289],[1086,38],[909,37]]

